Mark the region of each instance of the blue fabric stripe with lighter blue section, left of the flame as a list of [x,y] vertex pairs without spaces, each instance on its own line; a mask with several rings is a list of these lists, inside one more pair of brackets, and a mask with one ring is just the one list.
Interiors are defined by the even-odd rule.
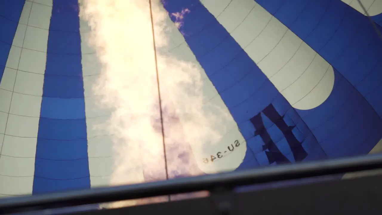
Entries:
[[47,52],[33,194],[90,188],[77,0],[53,0]]

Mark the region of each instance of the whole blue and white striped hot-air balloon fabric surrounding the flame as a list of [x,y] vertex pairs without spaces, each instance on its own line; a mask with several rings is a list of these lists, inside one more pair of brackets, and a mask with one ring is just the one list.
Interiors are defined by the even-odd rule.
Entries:
[[[382,0],[363,2],[382,30]],[[193,53],[207,100],[235,125],[218,147],[243,142],[214,171],[367,154],[381,140],[382,41],[357,1],[163,6],[188,8],[169,52]],[[93,129],[108,113],[92,98],[100,69],[78,0],[0,0],[0,29],[0,195],[109,185],[111,139]],[[203,172],[214,150],[195,155]]]

